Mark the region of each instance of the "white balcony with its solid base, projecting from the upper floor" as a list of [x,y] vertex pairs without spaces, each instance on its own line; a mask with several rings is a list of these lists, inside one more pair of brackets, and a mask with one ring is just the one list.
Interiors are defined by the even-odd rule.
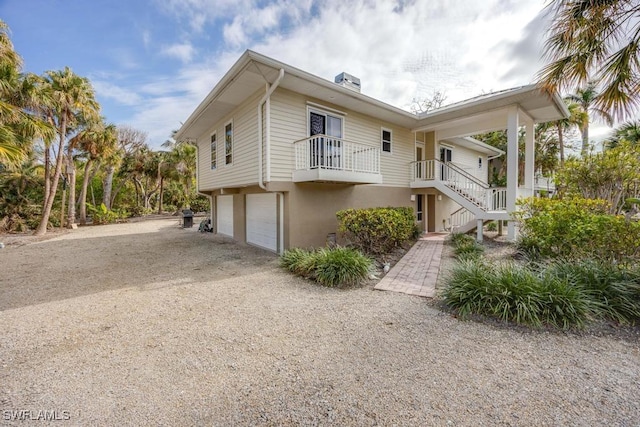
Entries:
[[327,135],[314,135],[293,145],[293,182],[382,183],[377,147]]

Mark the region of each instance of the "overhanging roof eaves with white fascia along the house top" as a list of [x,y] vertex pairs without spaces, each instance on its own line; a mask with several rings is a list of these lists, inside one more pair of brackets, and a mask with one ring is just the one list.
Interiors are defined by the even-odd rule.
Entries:
[[176,139],[196,139],[248,97],[265,90],[284,70],[280,87],[316,98],[342,108],[413,130],[424,130],[469,114],[518,103],[535,121],[558,120],[568,111],[557,95],[548,95],[534,85],[482,95],[422,115],[355,92],[314,74],[295,68],[257,52],[247,50],[209,92],[182,125]]

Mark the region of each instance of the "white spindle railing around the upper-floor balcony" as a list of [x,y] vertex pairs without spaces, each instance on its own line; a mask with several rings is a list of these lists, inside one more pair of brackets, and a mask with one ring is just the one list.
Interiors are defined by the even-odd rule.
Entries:
[[295,170],[327,169],[365,174],[380,173],[380,149],[327,135],[293,143]]

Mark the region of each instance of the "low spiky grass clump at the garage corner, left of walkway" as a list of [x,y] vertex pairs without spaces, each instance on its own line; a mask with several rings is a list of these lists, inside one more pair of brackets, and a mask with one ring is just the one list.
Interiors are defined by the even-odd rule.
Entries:
[[280,265],[328,287],[357,285],[369,276],[373,261],[360,251],[344,248],[318,250],[289,249],[280,258]]

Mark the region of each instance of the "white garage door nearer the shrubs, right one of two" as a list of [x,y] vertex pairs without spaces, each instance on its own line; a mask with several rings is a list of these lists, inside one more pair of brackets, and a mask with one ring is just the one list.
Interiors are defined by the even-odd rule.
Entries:
[[247,194],[247,243],[278,251],[278,209],[275,194]]

